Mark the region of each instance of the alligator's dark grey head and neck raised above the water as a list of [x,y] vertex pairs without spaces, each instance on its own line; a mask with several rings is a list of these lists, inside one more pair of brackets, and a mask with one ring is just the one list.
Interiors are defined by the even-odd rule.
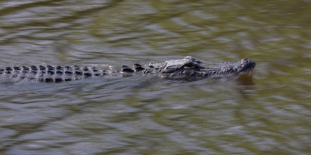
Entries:
[[[211,76],[240,76],[250,74],[256,63],[250,59],[238,62],[222,62],[206,65],[193,57],[187,56],[181,60],[171,60],[164,63],[150,63],[146,69],[134,64],[132,72],[158,73],[162,78],[207,78]],[[128,70],[124,68],[122,71]]]

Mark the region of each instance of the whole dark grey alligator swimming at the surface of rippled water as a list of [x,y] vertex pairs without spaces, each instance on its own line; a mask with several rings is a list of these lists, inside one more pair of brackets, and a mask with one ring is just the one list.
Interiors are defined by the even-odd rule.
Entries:
[[[150,63],[146,68],[134,64],[133,69],[122,66],[123,75],[135,73],[158,74],[162,78],[207,78],[219,76],[239,76],[250,74],[255,67],[255,62],[250,59],[242,59],[239,62],[222,62],[207,66],[196,59],[187,56],[181,60],[171,60],[164,63]],[[0,69],[0,75],[9,75],[13,78],[35,79],[43,82],[70,81],[87,77],[105,76],[104,70],[95,67],[78,66],[21,66],[6,67]]]

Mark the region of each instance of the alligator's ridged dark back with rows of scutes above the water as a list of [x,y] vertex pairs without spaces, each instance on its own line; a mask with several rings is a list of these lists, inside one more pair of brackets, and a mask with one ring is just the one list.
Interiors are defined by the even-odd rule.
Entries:
[[98,77],[105,75],[104,70],[95,67],[79,67],[79,66],[20,66],[6,67],[0,69],[0,75],[6,75],[12,78],[35,79],[42,82],[61,82],[77,80],[88,77]]

